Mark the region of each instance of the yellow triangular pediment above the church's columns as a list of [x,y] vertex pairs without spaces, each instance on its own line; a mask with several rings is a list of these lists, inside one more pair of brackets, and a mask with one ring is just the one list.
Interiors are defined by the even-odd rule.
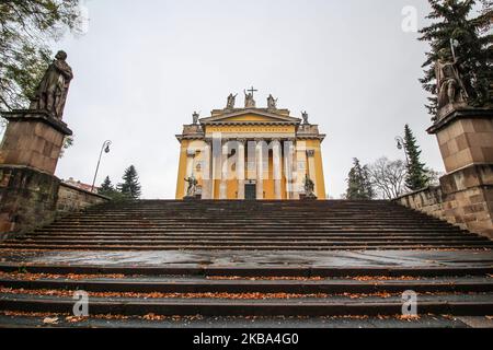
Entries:
[[257,124],[257,122],[286,122],[299,124],[301,119],[288,115],[277,114],[257,108],[225,112],[208,118],[200,119],[200,124]]

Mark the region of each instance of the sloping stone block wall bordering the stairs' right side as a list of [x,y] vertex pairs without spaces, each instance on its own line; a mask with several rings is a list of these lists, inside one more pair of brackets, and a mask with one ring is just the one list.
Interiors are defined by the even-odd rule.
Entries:
[[438,187],[411,192],[395,201],[493,238],[492,183],[491,165],[473,165],[445,175]]

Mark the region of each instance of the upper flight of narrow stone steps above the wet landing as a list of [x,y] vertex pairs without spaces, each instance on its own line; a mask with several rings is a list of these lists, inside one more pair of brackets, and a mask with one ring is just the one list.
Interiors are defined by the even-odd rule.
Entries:
[[388,201],[108,203],[0,248],[333,250],[486,248],[493,242]]

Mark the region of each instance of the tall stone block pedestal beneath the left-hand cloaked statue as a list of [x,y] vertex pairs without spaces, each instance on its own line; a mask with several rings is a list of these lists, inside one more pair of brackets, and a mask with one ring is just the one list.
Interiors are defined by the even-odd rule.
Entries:
[[53,221],[60,180],[54,176],[67,125],[39,110],[2,114],[0,233],[23,233]]

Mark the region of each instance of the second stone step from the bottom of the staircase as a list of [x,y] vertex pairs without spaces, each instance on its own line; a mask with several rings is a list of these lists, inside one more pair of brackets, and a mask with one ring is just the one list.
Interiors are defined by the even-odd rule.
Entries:
[[[1,293],[0,310],[72,313],[73,299],[66,296]],[[330,296],[313,299],[141,299],[90,298],[91,314],[202,315],[202,316],[336,316],[399,315],[401,296]],[[420,314],[475,316],[493,314],[492,294],[426,294],[419,296]]]

